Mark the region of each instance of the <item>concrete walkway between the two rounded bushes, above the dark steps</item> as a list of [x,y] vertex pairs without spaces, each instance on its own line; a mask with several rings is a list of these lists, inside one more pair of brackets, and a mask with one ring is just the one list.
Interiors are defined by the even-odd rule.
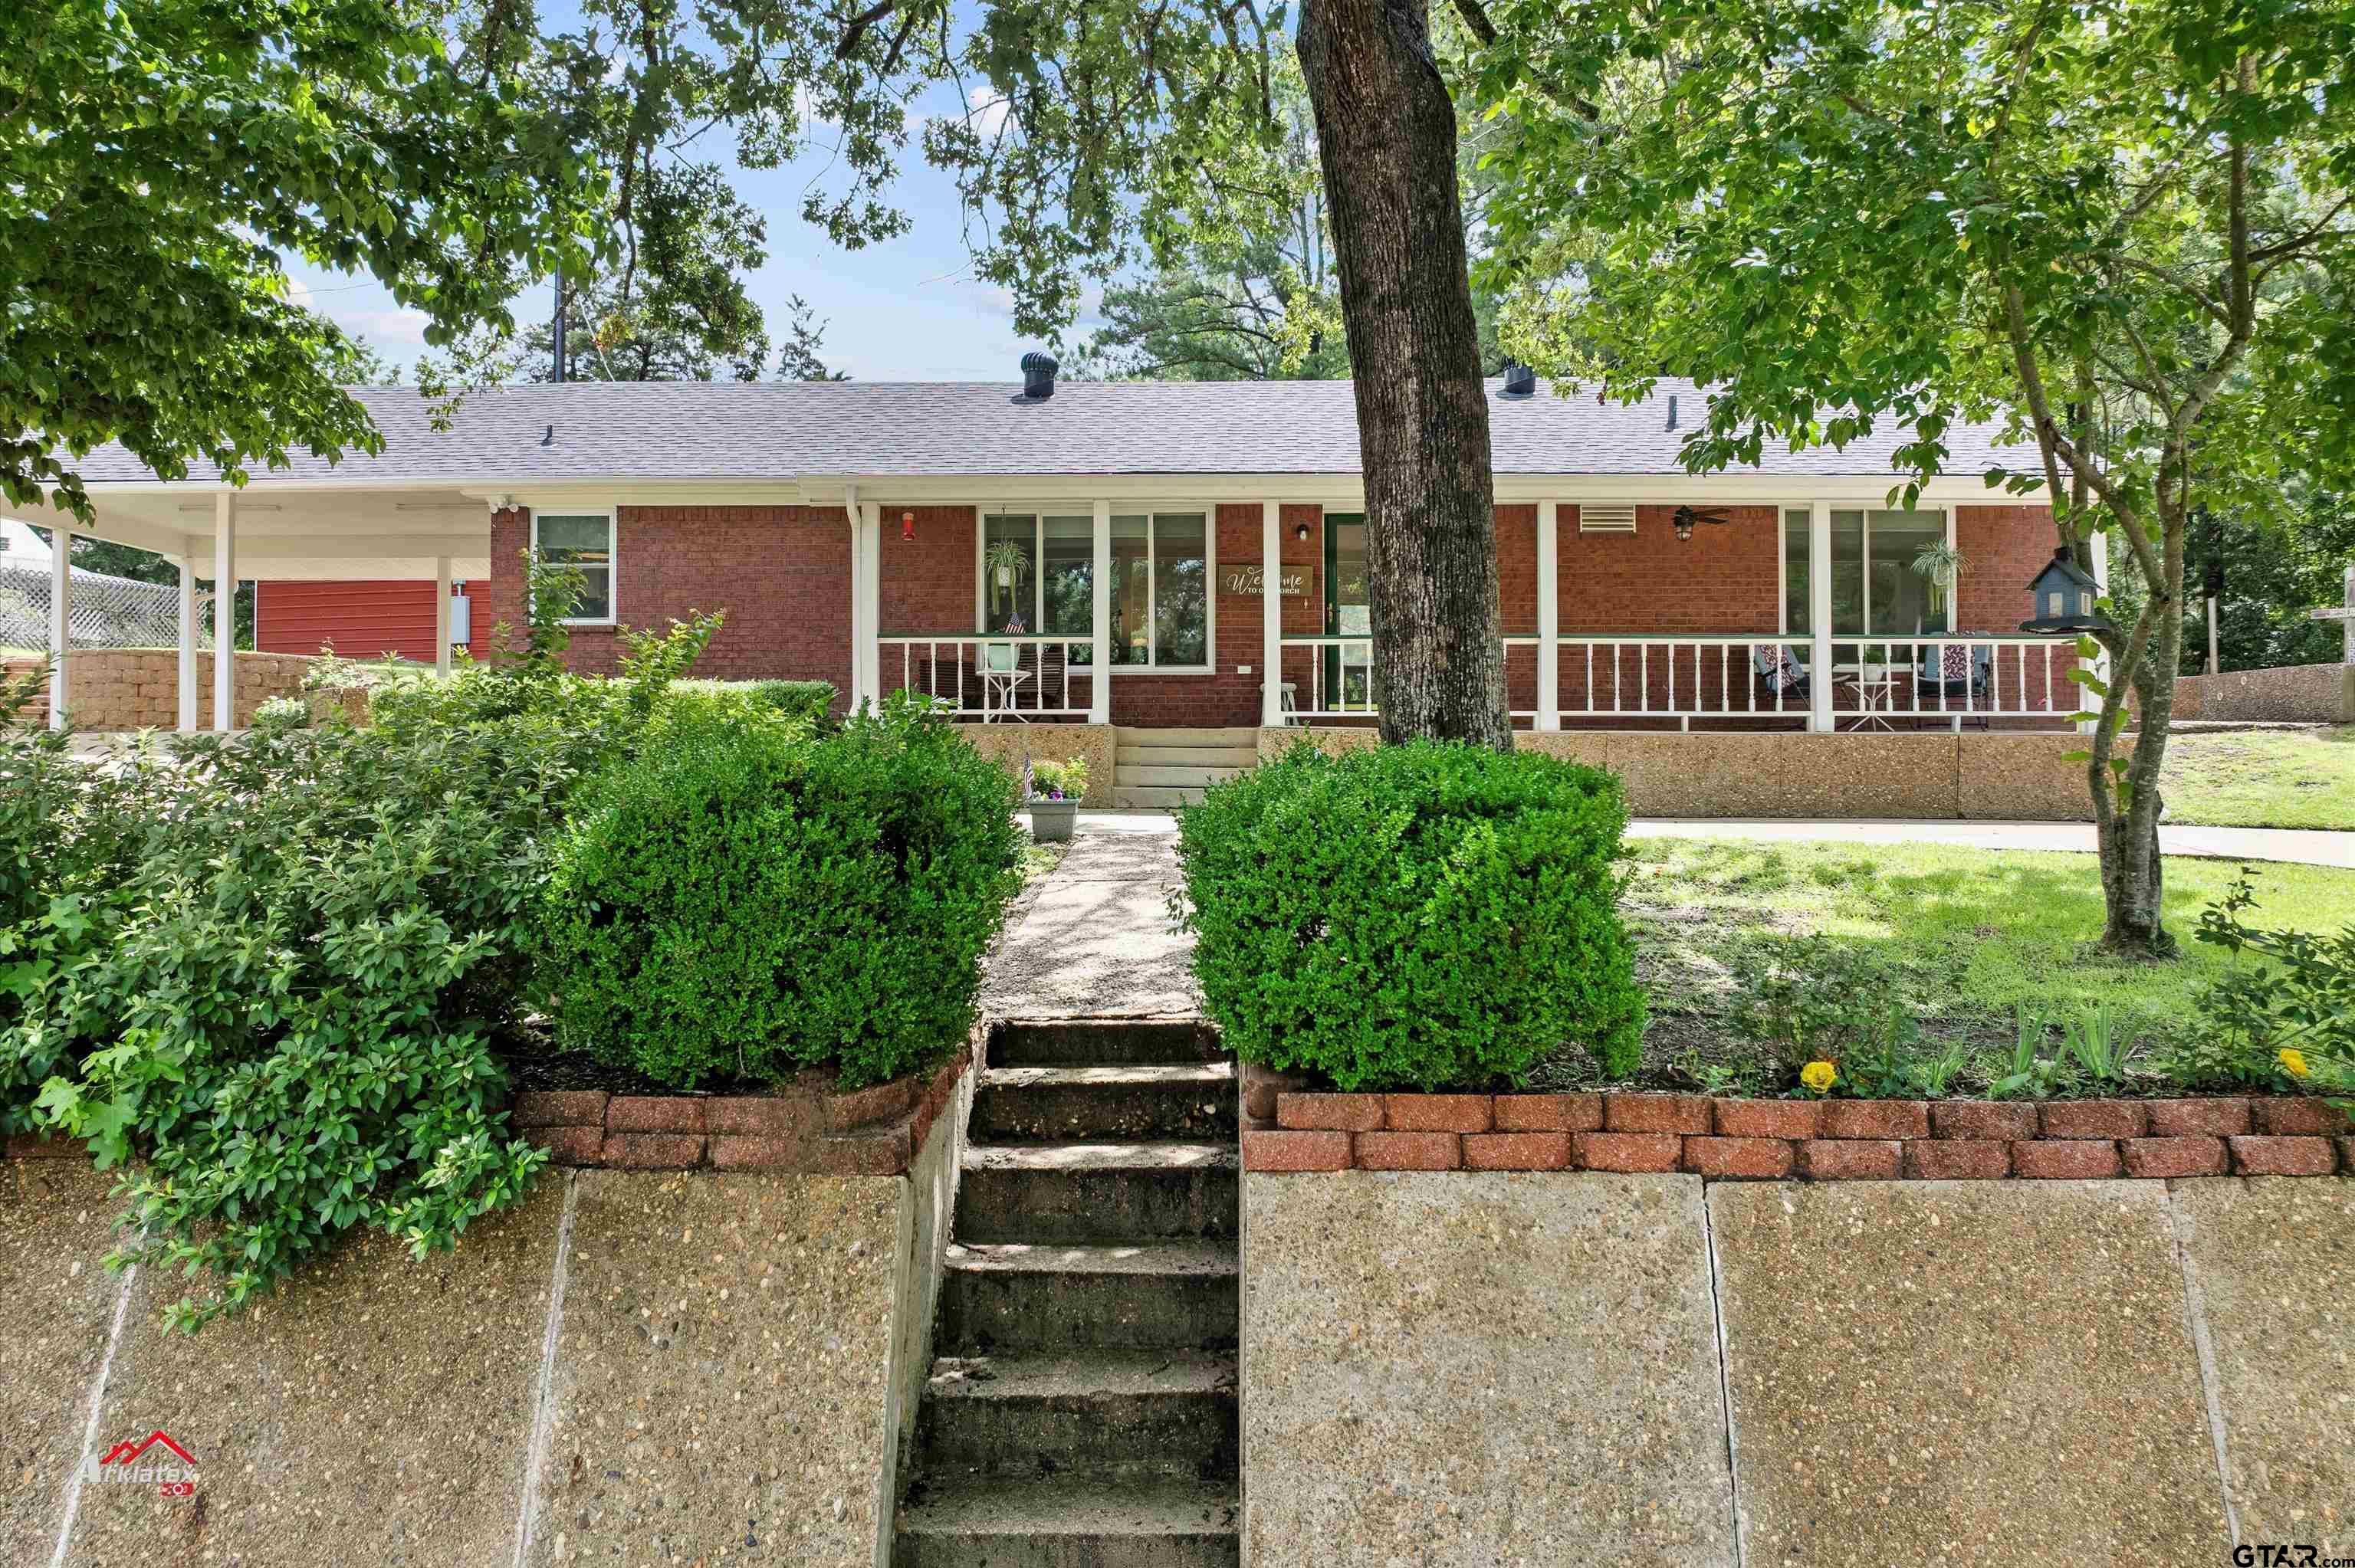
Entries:
[[1086,812],[1062,857],[989,958],[989,1017],[1192,1017],[1192,937],[1170,930],[1178,824],[1163,812]]

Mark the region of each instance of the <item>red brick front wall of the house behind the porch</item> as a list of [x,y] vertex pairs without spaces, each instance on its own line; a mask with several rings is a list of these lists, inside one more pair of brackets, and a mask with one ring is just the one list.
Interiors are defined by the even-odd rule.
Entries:
[[[975,551],[980,527],[975,506],[916,506],[916,539],[902,539],[902,509],[883,509],[883,582],[881,629],[885,636],[966,633],[973,626]],[[1564,504],[1561,549],[1557,565],[1561,633],[1773,633],[1780,624],[1780,506],[1733,506],[1731,523],[1700,525],[1691,539],[1677,539],[1672,506],[1637,506],[1634,534],[1580,534],[1578,506]],[[1302,567],[1305,596],[1283,600],[1286,633],[1324,631],[1324,509],[1286,504],[1281,511],[1281,560]],[[1295,537],[1298,527],[1307,537]],[[1255,725],[1260,720],[1260,680],[1265,650],[1260,596],[1227,589],[1236,567],[1262,565],[1260,506],[1227,501],[1215,509],[1213,603],[1215,669],[1194,676],[1121,673],[1112,676],[1112,720],[1116,725]],[[1498,509],[1498,610],[1507,636],[1533,636],[1538,629],[1535,584],[1535,504]],[[2025,584],[2051,558],[2051,516],[2042,506],[1957,506],[1955,534],[1966,567],[1959,582],[1959,624],[1964,631],[2006,633],[2030,614]],[[499,513],[492,523],[492,579],[478,600],[485,617],[476,629],[487,638],[490,624],[520,624],[520,582],[511,570],[528,542],[523,511]],[[850,685],[850,532],[838,506],[624,506],[619,511],[619,567],[615,600],[629,626],[664,626],[690,610],[728,610],[728,626],[714,638],[699,673],[716,678],[820,678],[836,687]],[[1283,655],[1283,678],[1309,704],[1312,650]],[[1641,727],[1644,718],[1611,716],[1613,706],[1670,706],[1670,680],[1681,699],[1696,683],[1707,706],[1724,704],[1731,723],[1792,727],[1797,713],[1745,720],[1752,702],[1771,709],[1771,692],[1757,683],[1747,647],[1696,650],[1674,655],[1627,647],[1618,655],[1613,683],[1608,655],[1592,666],[1594,718],[1590,706],[1587,655],[1561,650],[1564,723],[1599,727]],[[570,662],[582,671],[610,671],[617,664],[617,636],[610,629],[579,626],[572,633]],[[902,685],[902,662],[883,659],[885,687]],[[2068,711],[2075,690],[2063,680],[2068,659],[2054,659],[2054,706]],[[1253,673],[1241,673],[1251,666]],[[907,683],[926,687],[933,673],[921,655],[907,666]],[[2004,669],[2004,683],[2016,676]],[[1507,697],[1514,711],[1535,709],[1535,647],[1512,647],[1505,657]],[[1090,676],[1072,673],[1069,702],[1086,706]],[[1060,697],[1060,666],[1048,673],[1048,690]],[[942,690],[947,695],[947,690]],[[2042,666],[2032,666],[2030,697],[2042,699]],[[977,692],[968,692],[977,702]],[[1651,720],[1674,723],[1674,720]]]

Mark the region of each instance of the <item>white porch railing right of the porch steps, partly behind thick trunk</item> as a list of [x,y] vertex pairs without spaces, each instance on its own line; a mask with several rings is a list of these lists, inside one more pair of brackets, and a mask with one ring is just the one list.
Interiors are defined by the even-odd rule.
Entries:
[[[1538,647],[1535,636],[1505,638],[1507,690],[1528,692],[1528,702],[1543,702],[1533,669]],[[1286,636],[1283,650],[1309,655],[1307,683],[1300,683],[1298,659],[1286,662],[1295,718],[1380,713],[1373,638]],[[1689,730],[1696,718],[1804,725],[1816,713],[1809,636],[1566,636],[1557,650],[1557,713],[1564,720],[1672,718]],[[1837,730],[1891,730],[1893,720],[1962,727],[1964,720],[2063,718],[2077,709],[2077,687],[2068,680],[2075,659],[2070,638],[1835,638],[1823,711]],[[1512,716],[1535,723],[1538,709],[1514,706]]]

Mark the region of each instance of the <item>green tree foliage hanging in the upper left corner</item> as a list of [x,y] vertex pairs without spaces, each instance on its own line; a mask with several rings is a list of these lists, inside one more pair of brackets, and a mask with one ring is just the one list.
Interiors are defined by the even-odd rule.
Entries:
[[516,271],[579,259],[601,174],[518,35],[429,0],[0,7],[0,494],[87,509],[122,440],[179,478],[374,450],[341,334],[278,252],[363,271],[426,341],[511,330]]

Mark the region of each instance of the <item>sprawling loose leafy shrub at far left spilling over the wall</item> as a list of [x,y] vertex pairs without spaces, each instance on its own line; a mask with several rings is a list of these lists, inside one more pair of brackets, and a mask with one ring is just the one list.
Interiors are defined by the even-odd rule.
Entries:
[[706,636],[648,638],[622,680],[400,685],[372,730],[177,739],[179,765],[0,737],[0,1114],[125,1170],[115,1262],[205,1276],[172,1323],[358,1224],[447,1248],[525,1189],[544,1154],[490,1041],[532,1005],[544,848]]

